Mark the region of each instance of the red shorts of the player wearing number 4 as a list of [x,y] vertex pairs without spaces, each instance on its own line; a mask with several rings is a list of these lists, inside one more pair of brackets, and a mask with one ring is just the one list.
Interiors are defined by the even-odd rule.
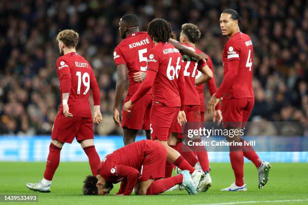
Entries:
[[221,115],[223,127],[244,128],[254,104],[255,98],[222,99]]

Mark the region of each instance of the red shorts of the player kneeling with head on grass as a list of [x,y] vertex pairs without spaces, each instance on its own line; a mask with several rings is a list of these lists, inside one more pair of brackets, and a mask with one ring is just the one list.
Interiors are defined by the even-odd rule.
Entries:
[[158,141],[153,142],[155,142],[155,144],[151,146],[156,147],[156,149],[144,158],[143,164],[139,170],[138,181],[165,177],[167,150],[162,143]]

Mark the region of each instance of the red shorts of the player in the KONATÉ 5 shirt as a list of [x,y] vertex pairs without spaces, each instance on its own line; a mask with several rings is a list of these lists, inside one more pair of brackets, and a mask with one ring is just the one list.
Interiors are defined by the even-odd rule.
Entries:
[[[130,98],[131,96],[126,96],[123,105]],[[122,109],[122,127],[134,130],[149,130],[151,107],[152,95],[146,94],[130,108],[130,112],[125,112]]]

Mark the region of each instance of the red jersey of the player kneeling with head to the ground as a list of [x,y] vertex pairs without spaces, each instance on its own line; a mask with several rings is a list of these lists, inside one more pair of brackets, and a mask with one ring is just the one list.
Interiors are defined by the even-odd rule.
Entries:
[[144,157],[157,148],[151,146],[152,143],[150,140],[140,140],[114,151],[102,160],[97,174],[111,183],[118,183],[122,176],[118,173],[117,165],[133,167],[140,171]]

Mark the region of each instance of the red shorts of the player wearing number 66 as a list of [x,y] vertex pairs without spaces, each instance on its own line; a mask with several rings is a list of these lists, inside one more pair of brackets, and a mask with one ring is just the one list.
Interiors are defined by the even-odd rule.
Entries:
[[168,141],[171,128],[178,124],[180,107],[166,107],[153,102],[150,116],[151,140]]

